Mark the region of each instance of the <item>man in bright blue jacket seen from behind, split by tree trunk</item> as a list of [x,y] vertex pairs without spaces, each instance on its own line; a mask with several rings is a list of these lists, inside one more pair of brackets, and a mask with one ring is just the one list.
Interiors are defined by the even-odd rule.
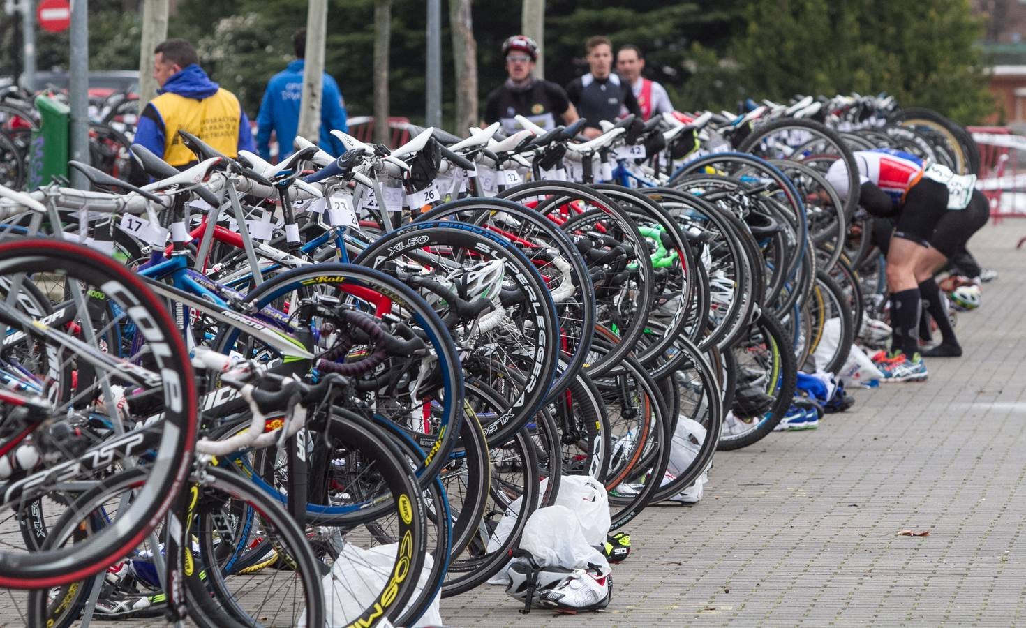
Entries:
[[[264,159],[271,159],[271,131],[278,139],[278,160],[292,154],[292,141],[300,126],[300,97],[303,93],[304,56],[307,51],[307,30],[301,29],[292,35],[292,48],[295,50],[295,61],[268,81],[264,91],[264,101],[256,116],[256,149]],[[338,157],[346,151],[346,147],[336,140],[329,131],[338,129],[349,131],[346,123],[346,105],[339,91],[339,84],[324,73],[321,87],[321,125],[320,142],[322,149]]]

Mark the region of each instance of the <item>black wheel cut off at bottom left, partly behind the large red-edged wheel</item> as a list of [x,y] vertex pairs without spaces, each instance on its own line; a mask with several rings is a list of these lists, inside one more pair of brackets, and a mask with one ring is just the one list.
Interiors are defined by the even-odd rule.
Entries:
[[[84,542],[118,518],[119,506],[127,499],[140,498],[146,473],[129,469],[94,485],[66,512],[47,539],[48,545]],[[236,474],[216,468],[203,472],[192,488],[195,496],[190,527],[193,546],[186,550],[184,579],[190,594],[189,613],[200,626],[295,625],[301,616],[321,625],[324,621],[324,597],[321,570],[300,531],[284,510],[272,499],[256,490]],[[214,541],[214,537],[216,540]],[[213,543],[211,543],[213,542]],[[231,550],[235,549],[235,552]],[[222,574],[225,556],[237,558],[242,552],[249,564],[243,570],[232,591],[233,611],[219,607],[204,588]],[[214,554],[222,556],[220,562]],[[96,619],[141,619],[164,613],[160,592],[163,574],[154,556],[164,554],[162,543],[154,547],[144,543],[128,554],[117,570],[105,578],[97,604]],[[167,556],[164,556],[167,559]],[[194,561],[195,560],[195,561]],[[288,568],[272,565],[280,560]],[[227,570],[226,570],[227,571]],[[259,574],[259,575],[258,575]],[[63,626],[77,619],[86,603],[95,577],[71,583],[50,591],[32,591],[29,598],[29,625]],[[241,616],[248,617],[246,621]],[[255,618],[260,618],[259,621]]]

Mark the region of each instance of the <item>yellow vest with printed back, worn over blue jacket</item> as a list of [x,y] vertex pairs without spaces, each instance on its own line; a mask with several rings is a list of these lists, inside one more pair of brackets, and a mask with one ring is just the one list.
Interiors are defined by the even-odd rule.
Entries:
[[202,101],[164,92],[150,105],[164,121],[164,161],[174,167],[196,161],[179,130],[188,131],[229,157],[238,155],[239,100],[224,88]]

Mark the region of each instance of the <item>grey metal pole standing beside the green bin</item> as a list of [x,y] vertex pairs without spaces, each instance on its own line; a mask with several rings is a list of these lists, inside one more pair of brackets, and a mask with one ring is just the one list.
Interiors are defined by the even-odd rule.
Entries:
[[[89,163],[89,0],[71,3],[71,63],[68,72],[71,106],[72,159]],[[71,172],[72,187],[89,188],[89,181],[78,170]]]

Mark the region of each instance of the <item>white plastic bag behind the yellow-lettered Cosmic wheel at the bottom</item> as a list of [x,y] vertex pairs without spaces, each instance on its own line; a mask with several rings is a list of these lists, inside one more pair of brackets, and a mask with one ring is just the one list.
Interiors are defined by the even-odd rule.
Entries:
[[[342,548],[339,558],[331,565],[331,572],[321,581],[324,587],[325,626],[348,626],[373,601],[391,576],[398,547],[397,543],[392,543],[370,549],[353,544],[346,544]],[[425,556],[417,585],[418,593],[428,584],[428,574],[433,564],[431,554]],[[412,627],[440,626],[440,599],[441,592],[435,595],[431,606]],[[300,619],[299,625],[307,625],[306,614]]]

